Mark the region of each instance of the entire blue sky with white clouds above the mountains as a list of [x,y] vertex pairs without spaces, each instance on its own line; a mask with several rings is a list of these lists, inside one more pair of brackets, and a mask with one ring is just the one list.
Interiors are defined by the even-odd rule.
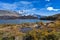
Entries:
[[60,13],[60,0],[0,0],[0,10],[48,16]]

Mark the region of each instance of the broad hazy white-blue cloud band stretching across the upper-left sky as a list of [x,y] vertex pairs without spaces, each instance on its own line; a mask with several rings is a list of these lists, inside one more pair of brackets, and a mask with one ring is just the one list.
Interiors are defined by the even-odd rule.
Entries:
[[32,7],[33,5],[31,4],[31,2],[28,1],[19,1],[19,2],[14,2],[12,4],[0,2],[1,10],[21,10],[21,9],[23,10]]

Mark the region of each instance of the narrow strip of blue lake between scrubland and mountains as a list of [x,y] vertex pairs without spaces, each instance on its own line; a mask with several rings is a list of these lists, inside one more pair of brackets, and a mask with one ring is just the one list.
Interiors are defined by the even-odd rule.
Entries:
[[35,22],[49,22],[47,20],[38,19],[14,19],[14,20],[1,20],[0,24],[21,24],[21,23],[35,23]]

